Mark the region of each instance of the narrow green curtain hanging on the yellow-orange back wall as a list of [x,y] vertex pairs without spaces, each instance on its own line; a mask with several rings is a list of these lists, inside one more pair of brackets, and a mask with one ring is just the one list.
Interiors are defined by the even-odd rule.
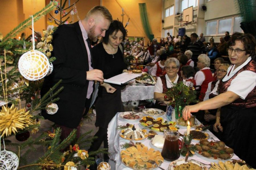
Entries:
[[154,34],[152,34],[152,30],[151,30],[149,22],[148,22],[148,14],[147,14],[146,3],[139,4],[139,14],[140,14],[140,19],[141,19],[143,29],[144,29],[147,37],[150,40],[153,40]]

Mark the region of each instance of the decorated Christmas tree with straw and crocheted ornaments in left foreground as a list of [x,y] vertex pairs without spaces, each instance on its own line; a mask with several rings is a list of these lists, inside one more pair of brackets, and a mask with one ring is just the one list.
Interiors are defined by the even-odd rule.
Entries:
[[[0,137],[4,138],[0,140],[0,169],[80,169],[95,163],[94,155],[106,153],[104,149],[90,153],[82,149],[90,146],[95,139],[87,137],[92,131],[77,139],[76,130],[73,130],[64,141],[60,141],[60,128],[52,128],[36,138],[30,137],[30,132],[36,133],[40,128],[41,109],[46,109],[49,114],[56,112],[57,108],[49,106],[59,99],[56,96],[63,89],[58,87],[60,80],[48,93],[40,96],[43,77],[53,70],[51,62],[55,58],[51,56],[54,48],[51,41],[56,27],[43,30],[44,36],[38,43],[34,42],[34,37],[32,42],[25,38],[17,41],[13,37],[30,25],[33,30],[33,22],[57,5],[57,2],[51,2],[4,37],[0,34],[0,58],[3,61],[0,66],[0,100],[3,105],[0,110]],[[26,101],[26,108],[21,108],[23,100]],[[20,142],[8,139],[13,135]],[[5,150],[5,145],[11,147],[13,152]],[[45,148],[44,155],[28,162],[26,157],[36,151],[36,145]]]

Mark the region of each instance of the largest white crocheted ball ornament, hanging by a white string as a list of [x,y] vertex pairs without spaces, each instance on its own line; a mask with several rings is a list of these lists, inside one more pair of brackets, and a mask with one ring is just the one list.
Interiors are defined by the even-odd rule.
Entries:
[[23,77],[34,81],[47,75],[50,63],[42,52],[31,50],[20,57],[18,67]]

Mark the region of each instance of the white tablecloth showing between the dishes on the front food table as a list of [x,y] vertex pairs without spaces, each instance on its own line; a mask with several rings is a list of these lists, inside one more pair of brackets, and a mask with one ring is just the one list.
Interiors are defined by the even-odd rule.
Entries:
[[[126,142],[129,143],[129,141],[121,138],[118,135],[119,131],[117,130],[117,126],[126,125],[127,123],[135,124],[135,127],[142,128],[142,126],[139,124],[139,120],[137,120],[137,121],[126,121],[126,120],[122,119],[119,116],[119,114],[120,113],[117,113],[116,116],[111,120],[111,122],[108,125],[108,143],[109,143],[109,150],[108,150],[108,152],[110,153],[110,155],[109,155],[109,157],[110,157],[109,164],[111,166],[111,170],[131,170],[131,168],[125,166],[120,161],[120,152],[122,150],[121,147],[120,147],[120,144],[124,144]],[[165,114],[162,115],[162,116],[159,116],[159,117],[162,117],[162,118],[166,119]],[[174,120],[174,118],[172,118],[172,120]],[[198,122],[198,124],[200,124],[200,122],[197,119],[196,119],[196,121]],[[180,127],[179,132],[181,134],[183,134],[187,130],[186,127],[182,127],[182,126],[179,126],[179,125],[177,125],[177,126]],[[193,129],[194,128],[191,127],[191,130],[193,130]],[[206,132],[210,135],[210,137],[213,137],[215,140],[218,140],[218,138],[216,136],[214,136],[209,130],[207,130]],[[158,134],[159,135],[163,135],[163,133],[161,133],[161,132],[158,132]],[[160,152],[162,150],[162,149],[159,149],[159,148],[153,146],[150,143],[150,140],[148,140],[147,138],[143,139],[141,141],[138,141],[138,142],[141,142],[142,144],[144,144],[145,146],[148,146],[149,148],[152,147],[155,150],[159,150]],[[192,140],[193,144],[196,144],[198,142],[199,141]],[[179,159],[184,159],[184,157],[181,156]],[[199,155],[197,153],[193,157],[189,157],[188,159],[189,160],[190,159],[194,159],[194,160],[206,163],[206,164],[209,164],[210,162],[216,162],[216,163],[218,162],[218,160],[207,159],[207,158],[205,158],[202,155]],[[239,160],[239,157],[234,154],[232,159]],[[227,160],[225,160],[225,161],[227,161]],[[161,167],[164,168],[164,169],[168,169],[169,164],[170,164],[169,161],[165,161],[164,160],[164,162],[161,164]],[[160,168],[156,168],[156,169],[158,170]]]

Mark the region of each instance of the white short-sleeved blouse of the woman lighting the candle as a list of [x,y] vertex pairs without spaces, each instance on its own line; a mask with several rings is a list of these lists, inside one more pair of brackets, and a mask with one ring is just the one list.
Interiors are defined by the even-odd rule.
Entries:
[[[222,81],[227,81],[231,77],[233,77],[240,69],[242,69],[249,61],[251,57],[241,64],[239,67],[234,69],[234,66],[231,65],[227,69],[226,76],[222,79]],[[232,67],[233,66],[233,67]],[[229,76],[228,73],[231,70]],[[254,89],[256,86],[256,73],[252,71],[243,71],[239,73],[232,81],[230,86],[227,88],[227,91],[231,91],[240,96],[240,98],[245,99],[246,96]]]

